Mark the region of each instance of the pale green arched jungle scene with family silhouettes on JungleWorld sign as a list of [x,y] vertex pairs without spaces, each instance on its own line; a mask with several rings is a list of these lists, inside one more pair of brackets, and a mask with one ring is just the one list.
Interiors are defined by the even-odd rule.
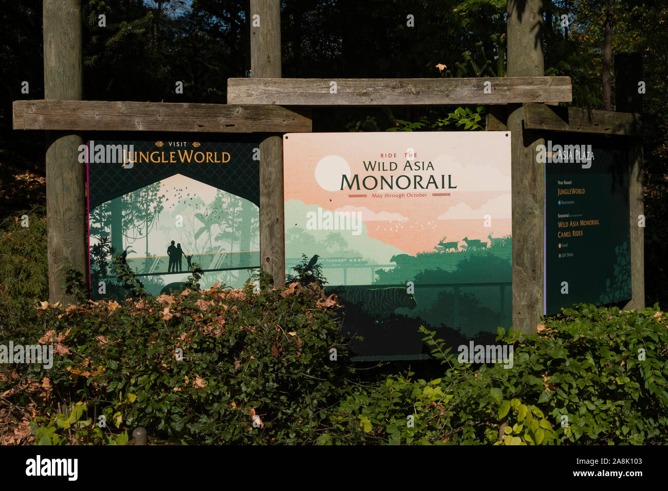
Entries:
[[259,208],[176,174],[90,211],[92,299],[129,295],[112,271],[119,253],[154,296],[182,291],[195,263],[202,289],[243,287],[260,264]]

